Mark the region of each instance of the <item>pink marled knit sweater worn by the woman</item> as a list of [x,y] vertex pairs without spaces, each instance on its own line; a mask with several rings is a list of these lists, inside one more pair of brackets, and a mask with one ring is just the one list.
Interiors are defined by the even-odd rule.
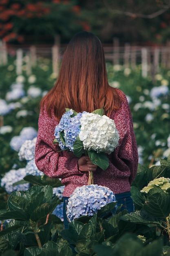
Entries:
[[[124,93],[123,95],[121,108],[110,115],[119,131],[119,145],[113,153],[108,155],[110,164],[106,171],[97,167],[93,173],[94,184],[107,186],[115,194],[130,191],[130,184],[135,178],[138,164],[132,116],[126,96]],[[72,152],[57,153],[60,147],[53,144],[57,124],[54,115],[50,118],[45,109],[40,111],[35,163],[38,169],[47,176],[61,178],[62,184],[65,185],[63,196],[69,197],[77,186],[88,184],[88,172],[82,173],[78,170],[78,158]]]

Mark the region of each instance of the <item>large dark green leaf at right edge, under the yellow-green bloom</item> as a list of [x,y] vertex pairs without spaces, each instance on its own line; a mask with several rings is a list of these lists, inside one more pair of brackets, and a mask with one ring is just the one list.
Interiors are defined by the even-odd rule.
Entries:
[[170,194],[159,187],[150,189],[144,209],[152,216],[166,219],[170,214]]

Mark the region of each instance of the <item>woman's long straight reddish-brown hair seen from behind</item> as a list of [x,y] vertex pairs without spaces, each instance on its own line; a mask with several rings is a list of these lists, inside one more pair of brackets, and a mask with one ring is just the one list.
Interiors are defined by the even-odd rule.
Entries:
[[104,107],[105,115],[120,107],[115,88],[108,85],[104,50],[99,38],[90,32],[73,36],[62,58],[58,79],[42,99],[51,116],[51,108],[59,121],[65,108],[92,112]]

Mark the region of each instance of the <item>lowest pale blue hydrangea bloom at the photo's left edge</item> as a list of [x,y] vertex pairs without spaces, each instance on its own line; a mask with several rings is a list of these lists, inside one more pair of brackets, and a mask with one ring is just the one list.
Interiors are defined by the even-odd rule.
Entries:
[[4,187],[9,194],[14,191],[26,191],[29,189],[29,183],[13,186],[15,182],[23,180],[25,176],[25,168],[20,168],[18,170],[10,170],[9,172],[5,173],[4,177],[2,177],[0,185]]

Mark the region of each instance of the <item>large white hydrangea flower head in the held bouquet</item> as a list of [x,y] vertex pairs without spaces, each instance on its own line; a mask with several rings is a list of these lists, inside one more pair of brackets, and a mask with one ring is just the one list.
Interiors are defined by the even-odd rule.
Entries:
[[81,128],[79,139],[85,150],[110,154],[117,147],[119,132],[113,119],[106,115],[100,116],[85,112],[80,118]]

